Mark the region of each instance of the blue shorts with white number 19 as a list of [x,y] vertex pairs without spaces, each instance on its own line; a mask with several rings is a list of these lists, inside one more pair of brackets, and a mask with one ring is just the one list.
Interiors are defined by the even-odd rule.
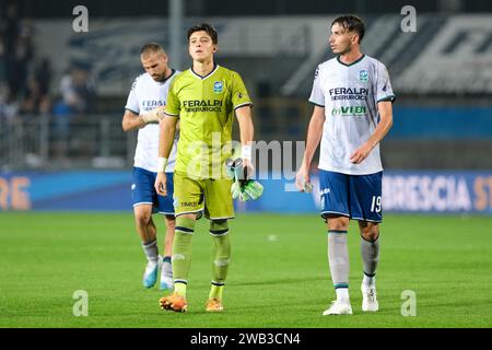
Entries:
[[321,217],[339,214],[354,220],[382,222],[383,172],[347,175],[319,170]]

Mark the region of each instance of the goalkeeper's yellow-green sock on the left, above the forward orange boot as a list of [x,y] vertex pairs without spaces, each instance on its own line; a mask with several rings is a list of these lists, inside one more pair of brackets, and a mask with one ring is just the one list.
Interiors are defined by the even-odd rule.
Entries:
[[183,296],[186,296],[186,287],[188,284],[194,232],[195,219],[176,218],[176,233],[173,242],[174,291]]

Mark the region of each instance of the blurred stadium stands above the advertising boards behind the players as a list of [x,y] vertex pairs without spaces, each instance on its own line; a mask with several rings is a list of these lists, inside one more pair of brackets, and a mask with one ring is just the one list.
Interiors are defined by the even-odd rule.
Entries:
[[[244,77],[255,102],[256,138],[304,140],[316,66],[332,57],[331,20],[366,22],[363,50],[383,61],[397,94],[383,143],[391,170],[492,168],[492,2],[183,1],[186,27],[219,31],[216,60]],[[75,33],[74,7],[89,10]],[[417,32],[403,32],[412,5]],[[0,2],[0,171],[129,168],[136,132],[120,121],[140,47],[169,45],[169,1]],[[177,66],[174,62],[178,62]]]

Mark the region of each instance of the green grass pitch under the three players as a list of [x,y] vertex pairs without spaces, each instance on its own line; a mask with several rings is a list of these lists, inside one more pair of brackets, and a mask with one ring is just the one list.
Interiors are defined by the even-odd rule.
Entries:
[[[155,217],[154,217],[155,218]],[[160,218],[156,218],[160,220]],[[162,243],[163,222],[159,222]],[[354,315],[321,316],[335,298],[327,234],[316,215],[238,214],[223,314],[207,314],[211,238],[194,238],[189,312],[159,308],[141,285],[144,256],[128,213],[0,213],[0,327],[491,327],[492,218],[387,214],[377,275],[379,312],[361,312],[362,264],[351,224]],[[73,293],[89,315],[73,315]],[[403,317],[403,291],[417,316]]]

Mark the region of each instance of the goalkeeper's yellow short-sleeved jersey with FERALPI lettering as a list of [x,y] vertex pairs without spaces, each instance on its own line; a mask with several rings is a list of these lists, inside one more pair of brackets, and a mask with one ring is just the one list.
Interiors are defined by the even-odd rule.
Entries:
[[215,66],[206,77],[188,69],[173,81],[165,113],[179,117],[176,172],[196,178],[223,177],[232,155],[235,110],[253,106],[241,75]]

